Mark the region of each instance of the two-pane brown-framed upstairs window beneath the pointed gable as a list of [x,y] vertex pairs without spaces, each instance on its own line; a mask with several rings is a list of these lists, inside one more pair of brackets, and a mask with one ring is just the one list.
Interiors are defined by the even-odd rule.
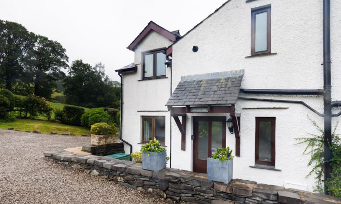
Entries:
[[166,55],[163,51],[151,51],[143,54],[143,79],[166,77]]

